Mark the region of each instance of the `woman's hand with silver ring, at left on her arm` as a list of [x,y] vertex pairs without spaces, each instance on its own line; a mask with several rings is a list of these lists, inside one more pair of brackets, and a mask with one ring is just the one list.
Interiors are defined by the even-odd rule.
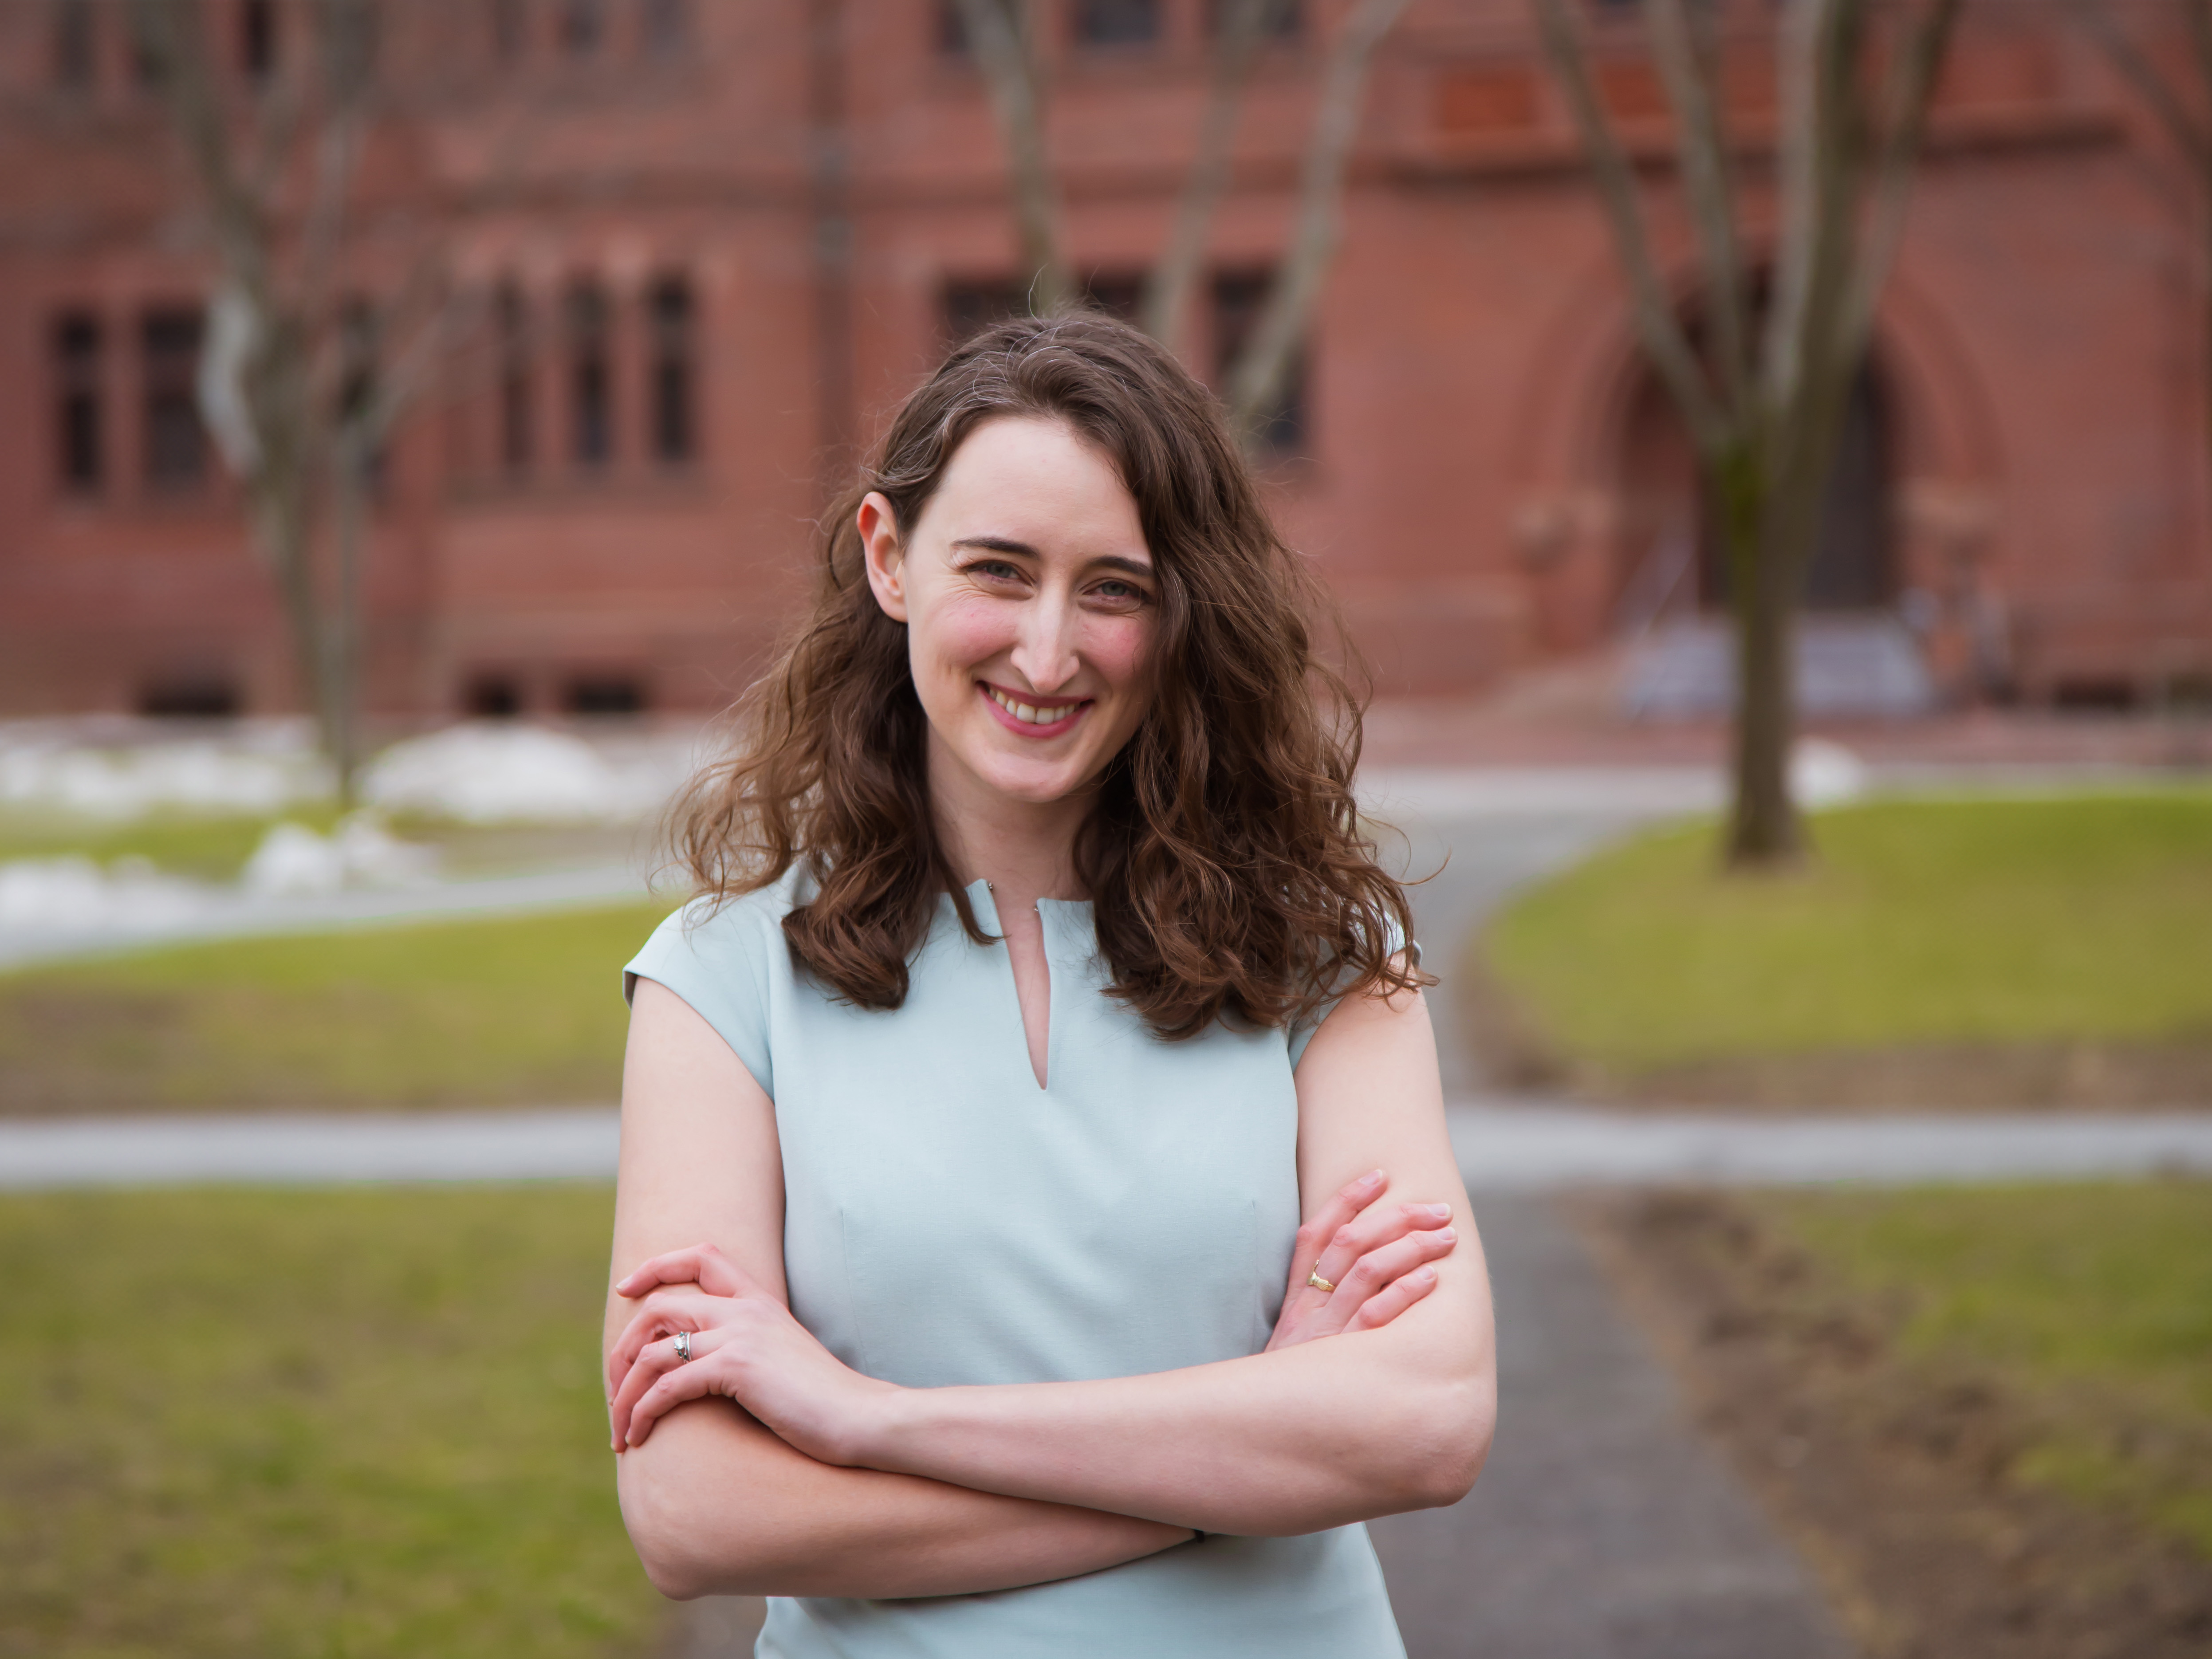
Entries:
[[[719,1394],[816,1462],[849,1464],[865,1413],[896,1394],[843,1365],[714,1245],[655,1256],[615,1290],[644,1296],[606,1356],[615,1451],[641,1447],[686,1400]],[[677,1332],[688,1332],[690,1360]]]

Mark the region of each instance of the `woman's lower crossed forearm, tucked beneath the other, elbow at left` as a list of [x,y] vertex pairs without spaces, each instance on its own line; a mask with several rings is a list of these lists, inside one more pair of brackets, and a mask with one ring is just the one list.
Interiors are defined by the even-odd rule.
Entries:
[[832,1469],[723,1400],[672,1411],[626,1451],[622,1513],[653,1584],[695,1595],[969,1595],[1097,1573],[1183,1526]]

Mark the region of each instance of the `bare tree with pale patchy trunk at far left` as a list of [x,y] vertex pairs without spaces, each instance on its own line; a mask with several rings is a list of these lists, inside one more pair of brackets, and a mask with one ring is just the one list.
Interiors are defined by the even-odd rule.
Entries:
[[239,478],[343,805],[361,765],[361,566],[376,473],[456,312],[434,250],[374,305],[356,184],[376,119],[372,0],[290,7],[268,84],[217,66],[197,0],[131,0],[215,257],[199,405]]

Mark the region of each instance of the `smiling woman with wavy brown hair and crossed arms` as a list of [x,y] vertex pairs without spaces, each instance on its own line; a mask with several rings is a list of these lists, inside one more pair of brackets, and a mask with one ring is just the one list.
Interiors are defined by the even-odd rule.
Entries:
[[1491,1314],[1316,602],[1166,352],[1004,323],[679,803],[608,1400],[759,1652],[1402,1655],[1358,1522],[1467,1493]]

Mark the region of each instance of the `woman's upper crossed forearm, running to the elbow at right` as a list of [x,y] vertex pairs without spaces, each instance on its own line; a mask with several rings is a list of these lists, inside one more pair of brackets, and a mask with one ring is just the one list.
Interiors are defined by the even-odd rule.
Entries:
[[898,1389],[849,1455],[1208,1533],[1449,1504],[1489,1451],[1493,1371],[1411,1325],[1155,1376]]

